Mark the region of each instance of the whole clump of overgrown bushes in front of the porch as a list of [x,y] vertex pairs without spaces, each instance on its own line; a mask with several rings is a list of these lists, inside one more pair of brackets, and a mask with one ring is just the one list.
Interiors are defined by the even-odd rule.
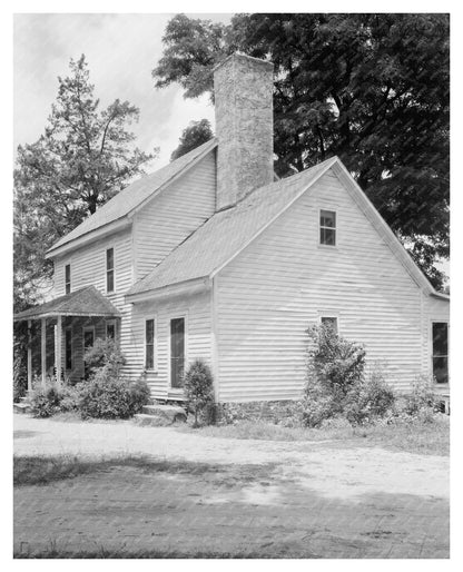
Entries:
[[144,379],[129,381],[121,375],[125,357],[112,339],[97,339],[85,354],[89,378],[71,386],[55,381],[37,387],[30,398],[36,417],[79,412],[82,418],[128,418],[149,402]]

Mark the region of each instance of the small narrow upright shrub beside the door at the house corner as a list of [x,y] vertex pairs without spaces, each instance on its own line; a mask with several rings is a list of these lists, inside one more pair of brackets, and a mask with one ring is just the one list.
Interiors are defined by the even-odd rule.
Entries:
[[195,414],[195,426],[198,415],[208,422],[208,412],[214,404],[214,381],[209,366],[201,359],[195,359],[188,367],[184,389],[187,407]]

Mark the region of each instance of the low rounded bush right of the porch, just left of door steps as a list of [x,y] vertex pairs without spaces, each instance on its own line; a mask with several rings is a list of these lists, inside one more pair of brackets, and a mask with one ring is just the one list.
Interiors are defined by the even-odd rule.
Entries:
[[149,387],[142,379],[130,382],[114,377],[106,367],[79,385],[79,411],[82,418],[127,418],[149,402]]

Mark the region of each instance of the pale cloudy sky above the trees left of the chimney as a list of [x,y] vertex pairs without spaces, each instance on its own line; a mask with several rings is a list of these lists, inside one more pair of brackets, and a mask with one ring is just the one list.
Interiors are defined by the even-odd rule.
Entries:
[[[106,106],[116,98],[140,109],[132,126],[137,146],[159,158],[147,170],[169,161],[178,138],[191,120],[214,108],[205,96],[184,99],[179,86],[157,90],[151,70],[161,57],[161,37],[174,14],[16,14],[14,16],[14,148],[43,132],[58,91],[58,76],[70,58],[86,55],[96,96]],[[232,14],[188,14],[228,22]]]

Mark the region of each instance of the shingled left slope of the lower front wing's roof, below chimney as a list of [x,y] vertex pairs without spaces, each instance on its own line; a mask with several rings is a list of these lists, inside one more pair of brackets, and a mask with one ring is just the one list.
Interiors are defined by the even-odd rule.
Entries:
[[235,207],[216,213],[137,282],[127,296],[210,276],[239,253],[287,206],[323,175],[336,158],[266,185]]

